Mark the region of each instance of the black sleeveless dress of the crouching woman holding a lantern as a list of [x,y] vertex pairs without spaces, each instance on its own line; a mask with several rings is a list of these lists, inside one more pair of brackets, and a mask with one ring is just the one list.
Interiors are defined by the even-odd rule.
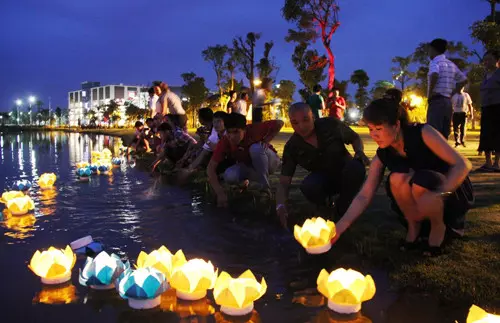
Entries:
[[[379,148],[377,156],[392,173],[408,173],[413,170],[415,174],[410,184],[418,184],[428,190],[436,190],[441,185],[441,178],[437,173],[446,174],[450,166],[441,158],[436,156],[425,144],[422,138],[422,124],[403,126],[403,138],[406,157],[401,156],[392,148]],[[392,209],[400,216],[400,220],[406,225],[403,212],[399,209],[391,192],[389,177],[386,182],[387,195],[391,199]],[[469,177],[446,198],[444,205],[444,223],[446,226],[463,230],[465,214],[474,203],[474,192]]]

